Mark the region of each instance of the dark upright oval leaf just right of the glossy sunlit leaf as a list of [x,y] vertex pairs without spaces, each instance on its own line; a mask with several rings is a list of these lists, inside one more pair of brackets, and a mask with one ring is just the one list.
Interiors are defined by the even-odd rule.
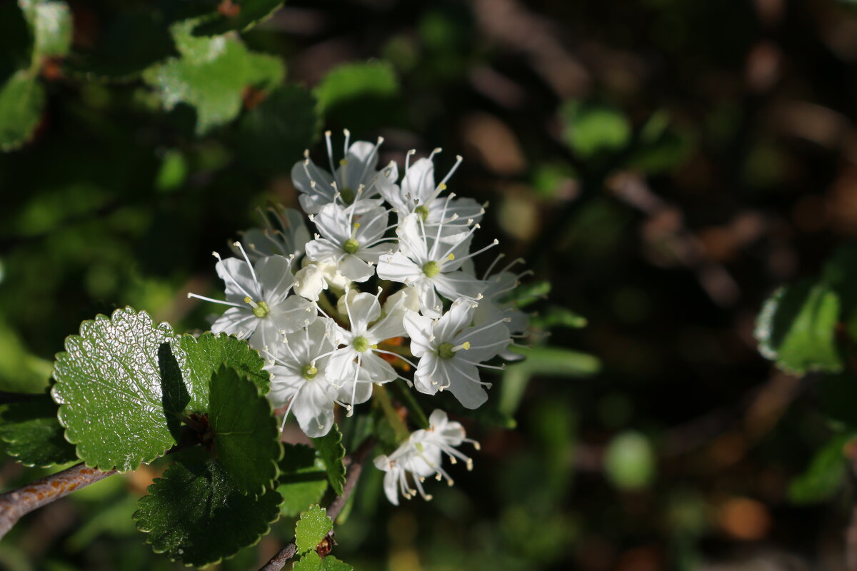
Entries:
[[249,378],[226,366],[213,374],[210,399],[208,421],[219,464],[245,494],[273,488],[283,449],[271,403]]

